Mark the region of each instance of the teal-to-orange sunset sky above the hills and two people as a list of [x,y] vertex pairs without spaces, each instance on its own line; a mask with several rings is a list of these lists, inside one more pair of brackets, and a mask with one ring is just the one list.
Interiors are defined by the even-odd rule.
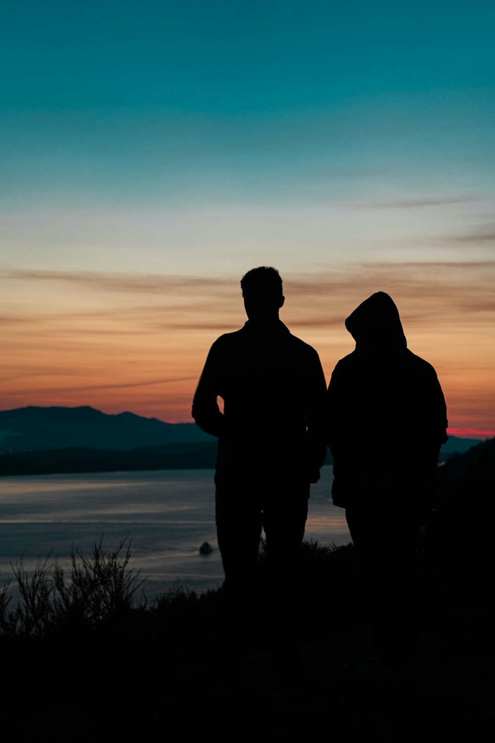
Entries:
[[494,25],[491,0],[8,4],[0,409],[190,421],[273,265],[327,380],[387,291],[450,432],[495,435]]

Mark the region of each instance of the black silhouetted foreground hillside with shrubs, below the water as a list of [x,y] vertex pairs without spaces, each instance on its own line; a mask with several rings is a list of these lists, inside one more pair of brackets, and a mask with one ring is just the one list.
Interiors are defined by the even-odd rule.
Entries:
[[373,647],[351,545],[301,549],[304,660],[318,686],[296,698],[270,694],[263,555],[243,674],[220,692],[209,669],[219,592],[177,589],[133,609],[137,583],[125,551],[106,555],[96,545],[91,557],[74,555],[72,582],[42,569],[37,583],[19,575],[26,603],[10,615],[7,607],[1,623],[5,739],[14,730],[17,739],[47,741],[493,739],[494,540],[485,537],[494,444],[442,467],[439,510],[416,552],[420,642],[407,685],[381,687],[341,672]]

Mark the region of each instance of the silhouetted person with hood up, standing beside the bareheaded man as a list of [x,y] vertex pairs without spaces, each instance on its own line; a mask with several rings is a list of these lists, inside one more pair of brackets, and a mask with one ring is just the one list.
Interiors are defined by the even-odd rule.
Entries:
[[347,663],[359,678],[408,672],[416,646],[414,547],[436,491],[447,441],[445,400],[429,363],[407,349],[399,311],[384,292],[345,321],[355,351],[327,392],[332,499],[347,524],[369,591],[378,661]]

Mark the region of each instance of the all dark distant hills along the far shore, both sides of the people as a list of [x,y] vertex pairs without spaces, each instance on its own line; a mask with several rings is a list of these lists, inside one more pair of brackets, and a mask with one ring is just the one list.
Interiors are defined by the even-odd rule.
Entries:
[[[217,440],[196,424],[170,424],[85,406],[0,412],[0,475],[214,467]],[[450,436],[439,461],[479,441]],[[325,464],[332,464],[327,452]]]

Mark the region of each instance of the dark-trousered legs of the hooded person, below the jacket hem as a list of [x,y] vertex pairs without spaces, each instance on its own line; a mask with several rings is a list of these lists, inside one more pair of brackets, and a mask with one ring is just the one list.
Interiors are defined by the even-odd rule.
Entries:
[[423,515],[422,504],[414,502],[346,510],[367,583],[376,652],[384,666],[413,660],[417,633],[413,557]]

